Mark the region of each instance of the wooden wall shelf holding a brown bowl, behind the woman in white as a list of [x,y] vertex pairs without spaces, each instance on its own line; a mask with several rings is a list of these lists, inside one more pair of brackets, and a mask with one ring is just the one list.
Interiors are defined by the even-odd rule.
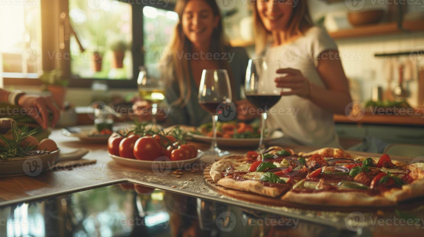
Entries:
[[[403,22],[403,27],[411,32],[424,31],[424,19]],[[406,32],[399,30],[396,22],[388,22],[374,25],[364,25],[346,30],[338,30],[329,32],[329,35],[333,39],[350,39],[404,33]],[[233,47],[250,47],[254,46],[254,41],[231,40],[230,44]]]

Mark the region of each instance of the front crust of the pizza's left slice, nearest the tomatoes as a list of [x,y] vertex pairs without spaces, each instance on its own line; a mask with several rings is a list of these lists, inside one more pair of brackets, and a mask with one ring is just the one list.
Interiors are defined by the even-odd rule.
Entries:
[[232,179],[232,176],[226,176],[225,178],[220,179],[218,181],[218,185],[229,187],[235,190],[257,193],[272,198],[281,195],[285,191],[276,187],[266,187],[262,185],[261,182],[256,180],[236,181]]

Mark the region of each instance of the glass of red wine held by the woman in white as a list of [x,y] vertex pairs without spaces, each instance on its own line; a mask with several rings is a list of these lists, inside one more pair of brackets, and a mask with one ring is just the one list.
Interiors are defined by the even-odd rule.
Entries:
[[248,102],[261,113],[261,136],[257,151],[265,150],[263,143],[267,113],[281,98],[281,88],[275,86],[277,69],[282,68],[279,60],[249,60],[246,70],[245,95]]

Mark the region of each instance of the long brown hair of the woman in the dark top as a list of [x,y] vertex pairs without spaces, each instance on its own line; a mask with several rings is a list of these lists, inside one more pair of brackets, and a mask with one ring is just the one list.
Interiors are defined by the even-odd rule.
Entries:
[[[174,29],[173,38],[170,41],[170,57],[171,57],[171,66],[170,68],[173,71],[172,78],[178,80],[178,85],[180,89],[179,99],[172,103],[172,105],[184,106],[190,99],[191,96],[191,79],[190,79],[190,68],[189,61],[184,57],[179,58],[177,53],[180,55],[185,52],[191,52],[191,41],[184,35],[182,30],[182,15],[184,8],[190,0],[178,0],[175,6],[175,11],[178,13],[178,24]],[[214,16],[220,16],[220,11],[215,0],[203,0],[211,8]],[[222,18],[219,18],[218,26],[213,30],[211,36],[211,44],[209,52],[225,52],[226,47],[229,47],[229,42],[226,39],[226,36],[223,32]],[[181,56],[180,56],[181,57]],[[229,63],[225,60],[219,60],[219,66],[223,69],[227,69],[228,73],[231,74],[229,70]],[[231,78],[231,77],[230,77]]]

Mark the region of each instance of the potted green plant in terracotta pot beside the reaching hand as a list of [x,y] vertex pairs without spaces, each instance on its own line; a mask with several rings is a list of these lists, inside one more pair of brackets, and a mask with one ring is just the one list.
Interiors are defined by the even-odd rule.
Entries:
[[62,107],[65,101],[66,95],[66,86],[68,85],[68,80],[62,78],[62,71],[60,69],[53,69],[49,72],[43,72],[40,76],[42,81],[42,89],[44,91],[50,91],[51,96],[59,106]]

